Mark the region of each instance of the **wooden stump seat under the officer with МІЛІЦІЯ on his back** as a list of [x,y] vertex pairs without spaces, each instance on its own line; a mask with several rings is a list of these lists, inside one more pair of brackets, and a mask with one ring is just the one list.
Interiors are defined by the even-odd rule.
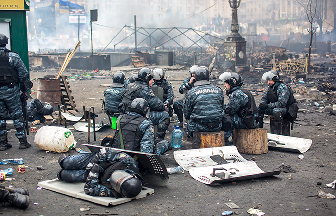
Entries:
[[196,148],[212,148],[225,146],[224,131],[194,132],[192,144]]

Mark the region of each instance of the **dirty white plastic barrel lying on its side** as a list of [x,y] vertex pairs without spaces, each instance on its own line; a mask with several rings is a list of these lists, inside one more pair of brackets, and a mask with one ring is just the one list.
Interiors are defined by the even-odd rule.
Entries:
[[43,126],[35,134],[34,143],[47,151],[67,152],[72,149],[73,133],[64,127]]

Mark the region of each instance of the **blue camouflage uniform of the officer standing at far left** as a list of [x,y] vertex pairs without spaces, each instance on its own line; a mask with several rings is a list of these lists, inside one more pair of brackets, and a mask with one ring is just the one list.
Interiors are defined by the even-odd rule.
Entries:
[[[0,54],[5,50],[5,47],[0,47]],[[16,129],[15,136],[18,139],[26,138],[23,125],[23,113],[20,100],[19,83],[29,79],[28,71],[23,64],[19,54],[9,52],[9,64],[17,70],[18,83],[13,87],[8,85],[0,87],[0,137],[7,137],[6,119],[14,120]],[[0,140],[1,141],[1,140]]]

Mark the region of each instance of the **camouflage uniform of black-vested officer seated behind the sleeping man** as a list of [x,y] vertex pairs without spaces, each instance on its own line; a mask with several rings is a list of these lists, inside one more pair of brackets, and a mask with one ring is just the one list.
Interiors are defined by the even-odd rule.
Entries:
[[[131,115],[131,116],[138,116],[142,120],[142,122],[139,125],[139,137],[141,139],[140,141],[140,152],[143,153],[155,153],[158,156],[162,155],[164,152],[167,151],[168,147],[169,147],[169,142],[167,140],[162,140],[160,142],[158,142],[156,144],[156,147],[154,147],[154,126],[153,123],[151,122],[150,119],[143,117],[142,115],[140,115],[139,113],[136,112],[128,112],[126,115]],[[125,115],[121,115],[118,117],[118,120]],[[120,127],[123,127],[122,124],[120,124]],[[132,126],[131,126],[132,127]],[[122,132],[123,130],[121,130]],[[136,129],[134,129],[134,133],[136,133]],[[114,143],[111,147],[114,148],[121,148],[121,144],[120,144],[120,138],[119,138],[119,134],[118,131],[116,132],[116,135],[114,136]],[[123,134],[123,142],[124,144],[127,143],[127,138],[131,137],[124,137]],[[133,144],[133,146],[136,146],[137,144]],[[132,151],[136,151],[136,149],[128,149],[127,146],[125,146],[125,149],[127,150],[132,150]]]

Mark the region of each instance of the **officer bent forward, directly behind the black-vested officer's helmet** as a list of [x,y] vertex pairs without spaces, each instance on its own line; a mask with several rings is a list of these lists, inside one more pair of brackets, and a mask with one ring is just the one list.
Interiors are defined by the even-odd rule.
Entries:
[[126,86],[123,92],[123,100],[119,104],[119,111],[122,114],[127,113],[127,107],[131,105],[131,102],[135,98],[144,98],[150,108],[149,119],[154,125],[157,125],[156,138],[157,142],[163,140],[166,135],[166,130],[170,124],[170,117],[167,108],[164,103],[154,95],[150,86],[154,83],[154,78],[160,79],[160,75],[157,72],[149,68],[142,68],[138,72],[138,76],[135,77],[135,82]]

